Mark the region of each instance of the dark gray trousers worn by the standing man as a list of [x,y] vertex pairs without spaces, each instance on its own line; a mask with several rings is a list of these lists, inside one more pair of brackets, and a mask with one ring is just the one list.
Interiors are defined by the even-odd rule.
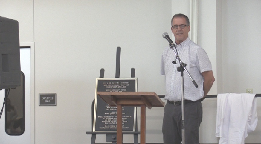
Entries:
[[[180,144],[182,141],[181,105],[175,106],[167,102],[164,107],[162,125],[164,144]],[[202,122],[201,101],[184,104],[185,143],[199,144],[199,125]]]

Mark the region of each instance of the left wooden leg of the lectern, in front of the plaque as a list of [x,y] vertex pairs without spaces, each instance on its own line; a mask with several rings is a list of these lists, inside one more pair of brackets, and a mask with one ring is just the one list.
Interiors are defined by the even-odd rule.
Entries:
[[117,105],[117,144],[122,144],[122,105]]

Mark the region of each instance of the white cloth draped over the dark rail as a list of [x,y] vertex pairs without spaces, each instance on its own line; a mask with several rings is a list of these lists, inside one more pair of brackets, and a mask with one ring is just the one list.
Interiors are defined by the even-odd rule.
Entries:
[[217,96],[216,137],[219,144],[244,144],[257,126],[255,94],[226,93]]

